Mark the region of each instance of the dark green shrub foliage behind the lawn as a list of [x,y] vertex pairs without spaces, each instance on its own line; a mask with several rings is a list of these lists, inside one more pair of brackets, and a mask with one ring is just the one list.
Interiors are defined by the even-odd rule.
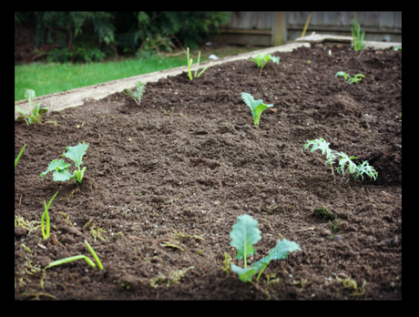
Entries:
[[197,48],[229,19],[230,12],[209,11],[15,11],[15,26],[35,29],[37,53],[50,62],[99,61],[121,53],[149,56],[171,52],[175,45]]

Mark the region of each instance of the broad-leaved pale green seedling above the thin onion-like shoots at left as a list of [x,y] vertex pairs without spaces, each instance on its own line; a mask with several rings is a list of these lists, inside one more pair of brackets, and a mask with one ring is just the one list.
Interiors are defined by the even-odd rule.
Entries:
[[86,167],[80,169],[80,165],[83,164],[82,158],[86,154],[87,147],[88,145],[85,142],[83,142],[83,144],[79,143],[76,147],[66,147],[66,153],[62,156],[73,160],[78,168],[78,170],[75,170],[73,174],[68,171],[70,164],[66,163],[64,159],[54,159],[51,163],[49,163],[48,169],[41,173],[41,178],[43,179],[48,172],[54,171],[54,181],[66,181],[68,179],[73,179],[78,186],[78,183],[81,183],[85,170],[87,169]]

